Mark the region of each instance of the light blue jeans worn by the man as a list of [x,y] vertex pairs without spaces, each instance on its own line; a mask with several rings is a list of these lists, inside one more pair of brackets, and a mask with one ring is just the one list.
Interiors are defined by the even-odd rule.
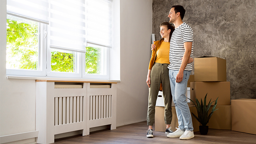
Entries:
[[188,102],[186,101],[186,91],[188,80],[191,71],[184,70],[183,79],[181,82],[176,82],[178,70],[169,69],[169,77],[171,84],[171,92],[173,95],[173,102],[175,104],[176,114],[178,117],[179,128],[182,131],[193,131],[192,117],[189,110]]

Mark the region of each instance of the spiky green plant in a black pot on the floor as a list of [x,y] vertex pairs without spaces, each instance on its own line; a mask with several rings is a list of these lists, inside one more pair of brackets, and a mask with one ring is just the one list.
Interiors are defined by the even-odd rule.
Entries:
[[199,126],[199,131],[200,131],[201,135],[206,135],[208,133],[209,127],[206,124],[209,122],[209,119],[210,119],[211,115],[213,114],[213,112],[218,110],[215,108],[216,108],[217,100],[219,97],[216,100],[214,100],[215,103],[212,107],[210,114],[208,115],[211,103],[214,101],[211,102],[211,99],[210,99],[208,105],[206,105],[206,96],[207,96],[207,94],[205,95],[204,103],[201,99],[201,104],[199,103],[198,99],[196,99],[196,98],[195,98],[196,103],[194,103],[194,101],[190,99],[196,107],[198,117],[196,117],[195,114],[193,114],[193,113],[192,113],[192,115],[202,124],[201,126]]

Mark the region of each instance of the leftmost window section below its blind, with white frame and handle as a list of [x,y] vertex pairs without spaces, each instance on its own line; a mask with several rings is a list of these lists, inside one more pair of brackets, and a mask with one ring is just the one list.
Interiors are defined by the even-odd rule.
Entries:
[[44,76],[43,32],[46,24],[7,14],[6,69],[8,75]]

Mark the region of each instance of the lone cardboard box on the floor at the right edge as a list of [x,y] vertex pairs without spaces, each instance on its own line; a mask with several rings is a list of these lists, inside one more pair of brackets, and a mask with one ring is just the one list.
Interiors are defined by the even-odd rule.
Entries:
[[232,131],[256,135],[256,99],[231,100]]

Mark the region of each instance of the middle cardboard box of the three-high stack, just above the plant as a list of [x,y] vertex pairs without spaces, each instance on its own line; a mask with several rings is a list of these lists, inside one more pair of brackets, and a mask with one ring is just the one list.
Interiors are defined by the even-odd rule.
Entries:
[[[216,100],[218,97],[217,105],[230,105],[230,82],[191,82],[190,83],[190,98],[195,102],[195,98],[199,101],[204,101],[207,94],[206,102]],[[193,102],[190,102],[193,104]],[[211,104],[214,105],[214,102]]]

